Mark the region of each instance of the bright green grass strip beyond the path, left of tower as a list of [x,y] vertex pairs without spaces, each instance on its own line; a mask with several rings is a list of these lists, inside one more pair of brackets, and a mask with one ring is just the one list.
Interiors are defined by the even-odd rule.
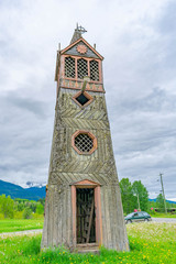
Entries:
[[42,229],[43,219],[6,219],[0,220],[0,233],[32,229]]

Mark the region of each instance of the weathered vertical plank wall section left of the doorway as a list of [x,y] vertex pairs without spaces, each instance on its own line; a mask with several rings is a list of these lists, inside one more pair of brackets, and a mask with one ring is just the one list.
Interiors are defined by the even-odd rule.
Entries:
[[72,249],[70,186],[48,187],[41,248],[65,245]]

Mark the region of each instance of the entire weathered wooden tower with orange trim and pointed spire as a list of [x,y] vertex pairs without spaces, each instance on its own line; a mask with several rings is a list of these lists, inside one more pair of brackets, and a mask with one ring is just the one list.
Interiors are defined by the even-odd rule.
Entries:
[[57,98],[42,249],[129,251],[102,79],[103,57],[76,28],[57,52]]

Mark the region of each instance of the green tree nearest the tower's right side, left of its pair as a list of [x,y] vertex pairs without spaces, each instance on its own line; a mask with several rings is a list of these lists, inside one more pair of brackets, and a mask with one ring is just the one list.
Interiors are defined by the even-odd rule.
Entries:
[[129,178],[122,178],[120,180],[121,198],[123,205],[123,211],[125,213],[134,211],[136,208],[136,197],[132,191],[132,186]]

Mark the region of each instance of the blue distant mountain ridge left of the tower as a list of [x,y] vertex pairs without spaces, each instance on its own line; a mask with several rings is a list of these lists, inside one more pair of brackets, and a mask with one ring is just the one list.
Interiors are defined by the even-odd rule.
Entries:
[[29,200],[38,200],[40,198],[45,197],[45,188],[46,186],[43,186],[41,188],[31,187],[24,189],[19,185],[0,180],[0,195],[11,196],[12,199],[21,198]]

